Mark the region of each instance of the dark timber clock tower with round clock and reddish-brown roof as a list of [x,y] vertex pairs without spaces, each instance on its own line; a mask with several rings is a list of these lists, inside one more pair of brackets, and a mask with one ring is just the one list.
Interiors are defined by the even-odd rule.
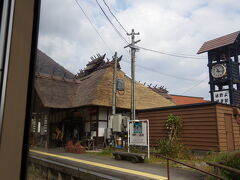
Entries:
[[198,54],[205,52],[211,101],[240,106],[240,31],[205,42]]

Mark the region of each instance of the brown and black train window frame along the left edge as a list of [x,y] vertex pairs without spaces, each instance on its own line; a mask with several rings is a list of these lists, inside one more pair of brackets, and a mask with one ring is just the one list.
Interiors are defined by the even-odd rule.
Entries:
[[0,179],[26,178],[40,4],[0,3]]

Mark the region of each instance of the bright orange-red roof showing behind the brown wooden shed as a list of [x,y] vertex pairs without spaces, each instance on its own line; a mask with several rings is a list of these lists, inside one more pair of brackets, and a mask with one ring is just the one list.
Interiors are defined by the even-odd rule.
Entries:
[[180,96],[180,95],[171,95],[171,97],[172,100],[176,103],[176,105],[208,102],[204,100],[203,97]]

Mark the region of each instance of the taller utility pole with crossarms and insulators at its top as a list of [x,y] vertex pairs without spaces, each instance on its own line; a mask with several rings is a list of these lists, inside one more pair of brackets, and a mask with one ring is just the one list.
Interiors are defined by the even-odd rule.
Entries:
[[135,92],[135,53],[136,50],[138,49],[135,44],[138,43],[140,40],[134,41],[135,39],[135,35],[139,35],[140,33],[135,33],[134,29],[132,29],[131,33],[127,33],[128,36],[131,36],[132,42],[131,44],[125,46],[126,47],[130,47],[131,48],[131,78],[132,78],[132,84],[131,84],[131,119],[135,120],[136,118],[136,114],[135,114],[135,110],[136,110],[136,92]]

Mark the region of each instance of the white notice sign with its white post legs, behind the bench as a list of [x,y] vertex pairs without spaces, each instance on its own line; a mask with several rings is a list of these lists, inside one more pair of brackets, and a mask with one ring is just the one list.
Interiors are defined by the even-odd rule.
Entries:
[[129,146],[147,146],[149,154],[149,122],[148,120],[128,121],[128,152]]

